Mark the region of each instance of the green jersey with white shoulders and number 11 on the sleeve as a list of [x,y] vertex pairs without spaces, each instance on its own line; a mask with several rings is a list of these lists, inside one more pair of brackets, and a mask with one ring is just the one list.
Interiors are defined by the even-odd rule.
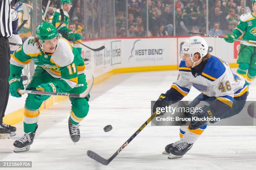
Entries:
[[31,60],[52,77],[60,78],[58,85],[64,92],[68,92],[77,85],[77,75],[83,74],[85,70],[84,60],[77,49],[62,37],[58,40],[56,50],[52,54],[46,54],[39,49],[34,37],[29,37],[11,56],[10,74],[21,75],[24,65]]

